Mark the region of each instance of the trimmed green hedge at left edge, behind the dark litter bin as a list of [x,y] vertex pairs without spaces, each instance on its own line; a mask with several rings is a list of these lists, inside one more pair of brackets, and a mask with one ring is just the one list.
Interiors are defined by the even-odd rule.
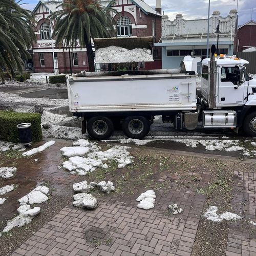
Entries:
[[41,115],[37,113],[18,113],[0,110],[0,139],[19,142],[17,124],[31,123],[32,140],[42,139]]

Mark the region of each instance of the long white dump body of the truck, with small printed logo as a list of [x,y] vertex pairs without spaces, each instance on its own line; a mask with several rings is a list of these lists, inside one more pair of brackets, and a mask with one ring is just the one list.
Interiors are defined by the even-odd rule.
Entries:
[[152,74],[68,79],[76,113],[196,110],[196,75]]

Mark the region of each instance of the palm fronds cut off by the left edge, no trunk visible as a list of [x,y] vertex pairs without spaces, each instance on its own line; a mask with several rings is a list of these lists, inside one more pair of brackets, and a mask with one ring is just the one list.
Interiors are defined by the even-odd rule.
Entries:
[[15,70],[22,72],[25,58],[35,40],[31,26],[35,22],[32,13],[23,9],[14,0],[1,0],[0,6],[0,76],[4,82],[3,68],[12,77]]

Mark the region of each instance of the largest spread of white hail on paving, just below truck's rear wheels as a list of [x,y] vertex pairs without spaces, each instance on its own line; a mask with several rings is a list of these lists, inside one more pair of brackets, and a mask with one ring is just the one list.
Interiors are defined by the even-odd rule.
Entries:
[[133,162],[130,152],[127,151],[131,147],[113,146],[106,151],[100,151],[101,148],[97,143],[88,140],[79,139],[73,143],[74,146],[62,147],[60,151],[63,156],[69,158],[68,161],[62,163],[64,169],[71,174],[86,175],[93,172],[97,167],[109,168],[108,164],[103,161],[114,160],[118,163],[118,168],[124,168],[127,164]]

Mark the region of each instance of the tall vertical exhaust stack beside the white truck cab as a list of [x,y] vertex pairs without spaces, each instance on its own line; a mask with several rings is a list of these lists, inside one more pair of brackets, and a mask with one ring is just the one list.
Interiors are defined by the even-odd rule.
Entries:
[[217,61],[215,60],[215,45],[211,46],[210,49],[210,61],[209,61],[209,94],[208,94],[208,104],[210,109],[216,107],[216,80],[217,80]]

